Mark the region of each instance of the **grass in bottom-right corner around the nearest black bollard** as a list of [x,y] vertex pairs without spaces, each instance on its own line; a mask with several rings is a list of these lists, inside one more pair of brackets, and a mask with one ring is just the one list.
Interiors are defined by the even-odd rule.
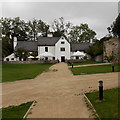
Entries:
[[118,107],[120,108],[120,104],[118,104],[118,88],[104,90],[104,101],[102,102],[96,102],[99,96],[98,92],[86,93],[86,96],[100,118],[118,118]]

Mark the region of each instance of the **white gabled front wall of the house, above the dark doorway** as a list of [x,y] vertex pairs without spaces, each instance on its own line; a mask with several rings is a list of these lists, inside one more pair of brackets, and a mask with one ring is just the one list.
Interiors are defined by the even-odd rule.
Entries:
[[[61,42],[65,43],[61,44]],[[65,48],[65,51],[60,51],[61,47]],[[55,59],[59,59],[61,62],[61,56],[65,56],[65,59],[70,59],[70,44],[64,37],[61,37],[60,40],[55,44]]]

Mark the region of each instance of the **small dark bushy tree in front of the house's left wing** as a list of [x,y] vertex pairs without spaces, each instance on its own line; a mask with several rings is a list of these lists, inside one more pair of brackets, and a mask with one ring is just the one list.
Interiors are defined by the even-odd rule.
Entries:
[[22,59],[25,61],[27,59],[28,55],[29,55],[28,51],[24,48],[18,48],[17,51],[15,51],[15,56],[19,57],[20,61]]

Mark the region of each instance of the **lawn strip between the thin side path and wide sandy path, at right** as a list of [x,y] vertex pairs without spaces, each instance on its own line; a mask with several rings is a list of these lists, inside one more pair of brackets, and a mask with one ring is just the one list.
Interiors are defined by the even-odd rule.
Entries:
[[[70,68],[74,75],[81,74],[96,74],[96,73],[109,73],[112,72],[111,65],[96,65],[86,67],[74,67]],[[118,65],[115,65],[115,72],[118,72]]]

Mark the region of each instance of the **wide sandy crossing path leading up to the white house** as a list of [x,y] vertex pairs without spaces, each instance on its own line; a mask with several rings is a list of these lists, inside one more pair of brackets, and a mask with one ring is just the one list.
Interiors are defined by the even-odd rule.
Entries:
[[83,93],[118,87],[118,73],[73,76],[67,64],[58,63],[32,80],[2,83],[3,107],[36,100],[28,118],[90,118]]

